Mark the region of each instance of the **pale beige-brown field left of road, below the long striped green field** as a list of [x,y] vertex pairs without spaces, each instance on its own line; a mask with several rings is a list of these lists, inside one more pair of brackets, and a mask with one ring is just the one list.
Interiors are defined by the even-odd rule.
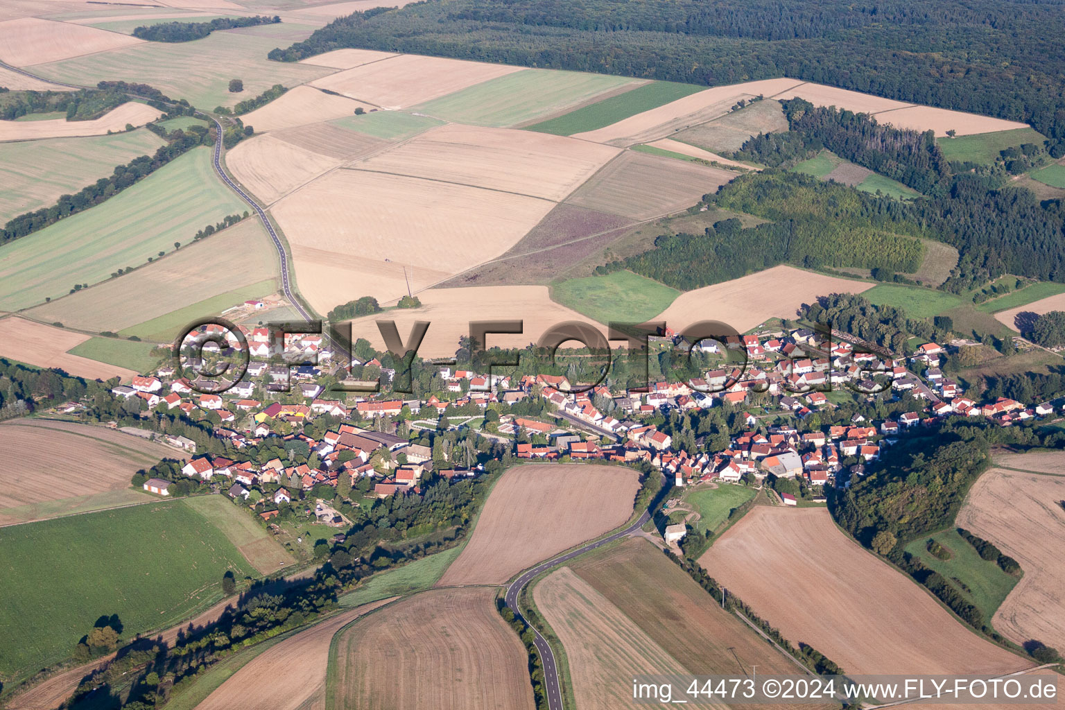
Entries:
[[[119,198],[113,198],[119,199]],[[95,208],[98,209],[98,208]],[[32,236],[29,238],[33,238]],[[173,247],[173,245],[170,245]],[[241,254],[240,268],[225,270],[233,254]],[[71,328],[102,332],[120,332],[124,336],[136,335],[145,341],[169,343],[177,329],[196,317],[212,315],[248,298],[265,296],[276,290],[271,280],[277,273],[277,257],[262,224],[250,218],[215,232],[206,240],[170,251],[148,266],[135,269],[117,279],[83,288],[75,294],[53,299],[31,309],[28,315],[46,323],[60,321]],[[265,283],[264,283],[265,282]],[[258,284],[258,285],[256,285]],[[226,296],[231,290],[256,285],[247,296]],[[169,325],[148,325],[154,318],[166,316],[176,306],[195,304],[223,296],[224,298],[194,309]],[[115,303],[137,304],[136,309],[115,308]],[[144,327],[138,327],[145,324]],[[149,337],[146,337],[149,336]]]

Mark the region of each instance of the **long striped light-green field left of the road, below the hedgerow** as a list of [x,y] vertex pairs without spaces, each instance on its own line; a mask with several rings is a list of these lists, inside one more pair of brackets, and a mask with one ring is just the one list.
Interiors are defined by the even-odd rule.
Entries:
[[210,149],[195,148],[111,199],[0,247],[0,309],[105,281],[246,208],[215,178]]

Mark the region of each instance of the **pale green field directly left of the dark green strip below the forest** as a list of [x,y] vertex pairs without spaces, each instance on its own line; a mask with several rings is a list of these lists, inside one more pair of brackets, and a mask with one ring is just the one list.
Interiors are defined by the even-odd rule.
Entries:
[[633,83],[628,77],[525,69],[414,106],[419,113],[475,126],[515,126],[564,111]]

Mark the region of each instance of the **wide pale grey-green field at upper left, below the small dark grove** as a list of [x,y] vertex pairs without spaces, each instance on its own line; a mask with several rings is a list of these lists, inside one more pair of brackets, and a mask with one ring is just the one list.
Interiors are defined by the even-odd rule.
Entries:
[[[42,64],[34,72],[49,79],[76,84],[96,84],[102,80],[122,80],[151,84],[174,99],[187,99],[198,109],[211,111],[217,105],[232,106],[258,96],[274,84],[296,86],[335,69],[296,62],[271,62],[266,53],[286,47],[302,37],[293,37],[294,29],[309,36],[314,28],[289,22],[253,28],[256,34],[240,30],[212,32],[203,39],[181,43],[147,42],[132,47],[97,52],[62,62]],[[229,93],[229,80],[244,81],[244,90]]]

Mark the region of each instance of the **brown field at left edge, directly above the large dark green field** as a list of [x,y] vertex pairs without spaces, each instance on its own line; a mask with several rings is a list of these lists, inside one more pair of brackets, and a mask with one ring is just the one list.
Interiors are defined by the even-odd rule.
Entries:
[[0,525],[148,502],[130,477],[176,457],[168,446],[71,422],[16,419],[0,425]]

